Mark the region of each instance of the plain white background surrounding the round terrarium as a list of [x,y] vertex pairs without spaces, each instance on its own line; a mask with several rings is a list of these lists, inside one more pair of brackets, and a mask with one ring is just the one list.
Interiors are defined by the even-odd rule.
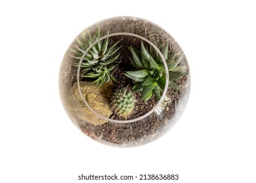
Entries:
[[[1,1],[0,182],[89,182],[77,180],[81,173],[256,182],[255,7],[253,1]],[[83,135],[58,94],[60,63],[75,36],[122,15],[171,33],[192,75],[179,122],[137,148]]]

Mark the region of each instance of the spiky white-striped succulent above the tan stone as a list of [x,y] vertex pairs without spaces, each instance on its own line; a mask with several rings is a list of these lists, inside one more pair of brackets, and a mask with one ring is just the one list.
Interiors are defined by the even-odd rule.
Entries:
[[[88,33],[88,38],[85,36],[85,33],[82,33],[81,37],[83,38],[82,41],[78,38],[76,39],[78,45],[75,45],[75,50],[70,48],[74,53],[74,55],[70,56],[77,59],[77,63],[74,64],[75,66],[78,66],[79,61],[89,46],[102,37],[102,33],[100,33],[100,28],[98,27],[93,37],[90,33]],[[111,75],[111,71],[117,66],[117,64],[114,65],[113,63],[119,58],[117,51],[121,46],[117,46],[118,43],[119,41],[112,44],[109,38],[98,41],[83,58],[81,76],[95,78],[92,84],[96,83],[98,87],[109,80],[116,81],[116,78]]]

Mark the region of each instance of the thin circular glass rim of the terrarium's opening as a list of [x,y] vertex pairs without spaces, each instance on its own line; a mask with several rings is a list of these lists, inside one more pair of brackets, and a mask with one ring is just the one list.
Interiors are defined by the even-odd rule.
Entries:
[[[101,114],[98,114],[98,112],[96,112],[90,105],[89,103],[87,103],[87,101],[85,100],[85,97],[83,97],[83,93],[81,92],[81,87],[80,87],[80,71],[81,71],[81,63],[83,62],[83,59],[85,58],[85,55],[89,52],[89,50],[91,50],[91,48],[97,44],[99,41],[102,41],[103,39],[106,39],[108,37],[114,37],[114,36],[118,36],[118,35],[128,35],[128,36],[131,36],[131,37],[137,37],[139,39],[142,39],[143,41],[146,41],[148,42],[148,44],[150,44],[151,46],[153,46],[153,48],[158,52],[158,54],[160,55],[160,58],[161,60],[163,61],[163,65],[165,67],[165,89],[163,90],[163,93],[161,95],[161,98],[160,100],[158,101],[158,103],[156,104],[155,107],[153,107],[150,111],[148,111],[146,114],[140,116],[139,118],[135,118],[135,119],[132,119],[132,120],[113,120],[111,118],[107,118],[105,116],[102,116]],[[78,91],[79,91],[79,94],[81,96],[81,98],[83,99],[83,102],[85,103],[85,105],[93,112],[93,114],[95,114],[96,116],[104,119],[104,120],[107,120],[109,122],[114,122],[114,123],[121,123],[121,124],[128,124],[128,123],[132,123],[132,122],[137,122],[139,120],[142,120],[144,118],[146,118],[147,116],[150,116],[150,114],[152,114],[154,111],[156,111],[158,109],[158,107],[160,107],[161,103],[163,102],[163,99],[165,98],[165,95],[167,93],[167,89],[168,89],[168,86],[169,86],[169,71],[168,71],[168,67],[167,67],[167,63],[165,61],[165,58],[163,57],[163,54],[161,54],[161,51],[158,49],[158,47],[153,44],[151,41],[149,41],[148,39],[140,36],[140,35],[137,35],[137,34],[134,34],[134,33],[125,33],[125,32],[120,32],[120,33],[112,33],[112,34],[108,34],[108,35],[105,35],[103,37],[101,37],[100,39],[97,39],[95,42],[93,42],[93,44],[91,44],[89,46],[89,48],[87,48],[87,50],[84,52],[83,56],[81,57],[80,61],[79,61],[79,65],[78,65],[78,68],[77,68],[77,88],[78,88]]]

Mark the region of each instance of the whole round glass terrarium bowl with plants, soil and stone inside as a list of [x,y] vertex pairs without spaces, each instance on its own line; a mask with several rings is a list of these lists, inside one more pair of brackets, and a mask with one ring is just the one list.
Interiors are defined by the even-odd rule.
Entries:
[[77,35],[62,60],[59,88],[68,116],[87,136],[110,146],[140,146],[179,120],[190,72],[169,33],[124,16]]

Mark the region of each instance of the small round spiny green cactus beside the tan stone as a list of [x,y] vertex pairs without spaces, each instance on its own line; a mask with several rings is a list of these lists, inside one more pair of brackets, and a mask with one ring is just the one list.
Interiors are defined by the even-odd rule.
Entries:
[[112,97],[112,105],[119,116],[127,118],[135,107],[135,97],[131,91],[122,88],[117,90]]

